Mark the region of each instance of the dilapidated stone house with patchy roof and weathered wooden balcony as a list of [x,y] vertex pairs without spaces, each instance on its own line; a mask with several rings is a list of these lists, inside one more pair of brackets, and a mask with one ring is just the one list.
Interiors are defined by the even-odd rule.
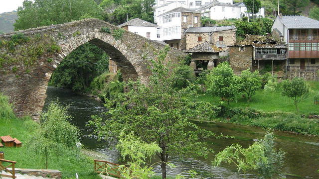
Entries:
[[246,35],[246,39],[229,45],[229,63],[234,73],[246,69],[285,71],[287,46],[277,43],[269,36]]

